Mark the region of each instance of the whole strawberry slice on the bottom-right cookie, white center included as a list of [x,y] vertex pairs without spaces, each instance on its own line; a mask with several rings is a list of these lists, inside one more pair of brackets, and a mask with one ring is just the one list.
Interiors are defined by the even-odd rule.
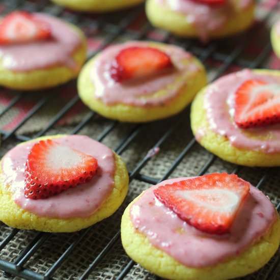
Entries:
[[225,234],[249,193],[250,184],[236,175],[213,173],[154,190],[156,198],[194,228]]

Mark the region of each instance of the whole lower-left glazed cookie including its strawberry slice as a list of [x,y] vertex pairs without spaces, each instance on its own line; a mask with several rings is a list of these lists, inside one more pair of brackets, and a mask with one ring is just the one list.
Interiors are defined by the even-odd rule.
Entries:
[[19,229],[74,232],[113,214],[128,190],[122,159],[82,135],[24,142],[2,159],[0,220]]

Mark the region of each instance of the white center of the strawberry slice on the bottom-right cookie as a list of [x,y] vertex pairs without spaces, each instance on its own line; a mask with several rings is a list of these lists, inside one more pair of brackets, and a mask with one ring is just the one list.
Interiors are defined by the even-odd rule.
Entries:
[[198,206],[214,211],[232,212],[238,208],[238,195],[226,189],[178,190],[176,194]]

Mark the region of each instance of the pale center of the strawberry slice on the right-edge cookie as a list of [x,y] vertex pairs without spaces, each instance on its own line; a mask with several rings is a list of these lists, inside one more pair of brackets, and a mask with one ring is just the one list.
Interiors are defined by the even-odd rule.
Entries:
[[280,103],[280,86],[277,83],[260,85],[250,92],[248,102],[244,106],[241,119],[254,116],[259,111]]

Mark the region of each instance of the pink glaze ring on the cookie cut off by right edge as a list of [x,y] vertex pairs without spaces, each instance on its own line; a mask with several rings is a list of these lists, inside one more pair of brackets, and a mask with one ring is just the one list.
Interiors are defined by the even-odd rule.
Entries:
[[204,107],[210,129],[227,137],[234,147],[278,153],[280,152],[279,124],[245,130],[238,128],[233,121],[234,94],[248,79],[261,79],[280,84],[280,76],[256,74],[247,69],[219,78],[207,88],[205,93]]

